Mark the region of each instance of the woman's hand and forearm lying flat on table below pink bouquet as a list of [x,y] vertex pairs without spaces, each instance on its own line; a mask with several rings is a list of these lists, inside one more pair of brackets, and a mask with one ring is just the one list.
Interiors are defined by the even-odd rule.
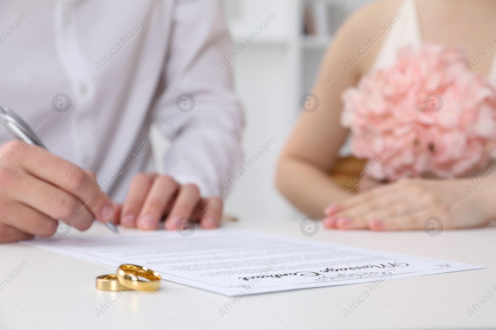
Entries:
[[[432,180],[402,179],[339,200],[328,208],[323,224],[326,228],[412,230],[423,229],[424,222],[436,216],[444,228],[486,225],[496,215],[491,199],[495,182],[473,178]],[[471,191],[472,190],[472,191]]]

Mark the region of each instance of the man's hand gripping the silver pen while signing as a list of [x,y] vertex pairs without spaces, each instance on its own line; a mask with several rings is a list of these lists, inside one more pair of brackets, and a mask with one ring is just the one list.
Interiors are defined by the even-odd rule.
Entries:
[[117,206],[90,171],[20,140],[0,145],[0,161],[0,242],[51,236],[58,217],[79,230],[95,218],[117,222]]

